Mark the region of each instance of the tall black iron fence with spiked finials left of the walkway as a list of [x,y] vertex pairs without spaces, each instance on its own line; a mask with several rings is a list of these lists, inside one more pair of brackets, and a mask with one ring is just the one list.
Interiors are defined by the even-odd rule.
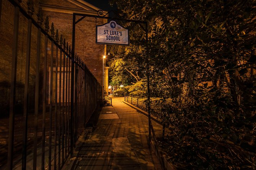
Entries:
[[[8,18],[13,21],[11,71],[9,85],[2,88],[7,88],[10,97],[9,115],[1,118],[0,169],[60,169],[73,154],[75,142],[97,107],[98,82],[77,55],[71,56],[71,47],[53,24],[48,34],[48,18],[42,29],[41,10],[35,21],[31,1],[28,12],[20,2],[8,0],[15,14]],[[21,67],[17,59],[24,39],[19,33],[24,29],[20,21],[24,20],[26,65],[22,70],[17,68]],[[2,19],[0,27],[4,24]],[[24,81],[18,82],[21,74]],[[22,87],[24,97],[17,99],[17,87]]]

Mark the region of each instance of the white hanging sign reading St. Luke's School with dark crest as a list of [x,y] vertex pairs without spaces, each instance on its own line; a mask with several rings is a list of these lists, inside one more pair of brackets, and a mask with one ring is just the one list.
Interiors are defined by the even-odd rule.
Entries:
[[110,21],[96,26],[96,43],[112,45],[129,45],[129,30]]

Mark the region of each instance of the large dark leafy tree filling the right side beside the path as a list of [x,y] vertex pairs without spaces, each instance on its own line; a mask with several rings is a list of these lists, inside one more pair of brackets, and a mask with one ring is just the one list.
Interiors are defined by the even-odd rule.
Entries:
[[175,127],[168,152],[179,155],[171,160],[187,169],[254,167],[256,1],[112,3],[128,18],[148,21],[149,43],[130,24],[134,47],[124,50],[140,61],[140,72],[149,61],[151,86],[159,89],[152,95],[162,98]]

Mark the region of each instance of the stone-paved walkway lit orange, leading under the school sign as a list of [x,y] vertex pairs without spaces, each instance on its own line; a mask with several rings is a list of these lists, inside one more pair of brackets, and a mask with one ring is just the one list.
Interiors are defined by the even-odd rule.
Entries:
[[[148,149],[148,119],[113,98],[104,107],[96,129],[81,136],[74,169],[77,170],[161,170],[157,157]],[[152,121],[155,133],[161,125]]]

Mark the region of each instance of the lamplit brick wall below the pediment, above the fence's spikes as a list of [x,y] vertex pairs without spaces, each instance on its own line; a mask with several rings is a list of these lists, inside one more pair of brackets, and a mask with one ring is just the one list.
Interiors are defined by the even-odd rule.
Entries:
[[[53,22],[54,29],[58,29],[59,35],[62,34],[68,45],[72,45],[72,14],[44,11],[44,18],[46,16],[49,16],[50,25]],[[103,19],[97,19],[97,24],[102,23]],[[103,85],[103,45],[95,43],[95,18],[85,18],[78,22],[75,35],[75,53],[84,61],[88,69],[98,80],[98,93],[100,94],[98,95],[98,100],[101,100]]]

